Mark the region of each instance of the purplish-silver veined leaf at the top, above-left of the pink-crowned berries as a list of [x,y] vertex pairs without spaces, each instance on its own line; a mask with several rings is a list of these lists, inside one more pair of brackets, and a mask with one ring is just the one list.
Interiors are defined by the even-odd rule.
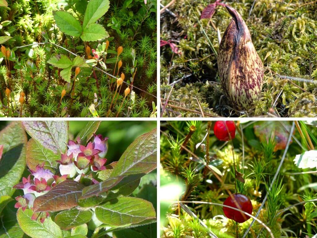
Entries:
[[23,121],[27,133],[44,148],[64,154],[68,143],[67,121]]

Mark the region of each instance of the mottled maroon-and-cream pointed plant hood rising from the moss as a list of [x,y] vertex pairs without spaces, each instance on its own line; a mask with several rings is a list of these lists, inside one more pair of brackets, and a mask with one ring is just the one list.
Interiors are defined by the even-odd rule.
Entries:
[[263,63],[252,43],[241,15],[226,6],[232,20],[223,34],[218,50],[221,87],[232,107],[248,109],[260,95],[263,86]]

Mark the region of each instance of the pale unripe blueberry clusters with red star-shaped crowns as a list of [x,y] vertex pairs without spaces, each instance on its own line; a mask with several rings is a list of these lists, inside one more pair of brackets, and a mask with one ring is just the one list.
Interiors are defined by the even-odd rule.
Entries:
[[[33,210],[33,203],[36,197],[47,193],[56,184],[72,179],[80,182],[82,178],[88,178],[92,183],[99,183],[93,177],[93,172],[106,169],[107,161],[104,156],[107,154],[108,138],[103,138],[101,135],[94,135],[93,142],[88,142],[86,146],[80,144],[80,139],[76,141],[68,141],[68,149],[66,154],[61,154],[61,159],[57,160],[59,165],[60,175],[44,168],[42,165],[37,165],[35,170],[29,169],[30,175],[22,178],[22,182],[16,184],[14,188],[22,189],[23,196],[16,197],[15,208],[26,208]],[[48,212],[33,212],[32,220],[40,218],[43,223],[45,218],[49,216]]]

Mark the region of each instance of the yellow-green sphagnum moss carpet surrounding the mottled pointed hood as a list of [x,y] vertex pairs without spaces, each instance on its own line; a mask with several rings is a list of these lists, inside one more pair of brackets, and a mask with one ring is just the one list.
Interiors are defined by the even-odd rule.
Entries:
[[[200,104],[207,104],[206,112],[211,111],[219,116],[317,116],[317,91],[314,90],[317,86],[317,3],[259,0],[249,17],[252,0],[224,2],[236,9],[244,19],[264,65],[261,94],[250,109],[237,111],[224,96],[217,56],[209,46],[210,40],[218,50],[217,28],[222,36],[232,17],[223,6],[217,6],[210,20],[198,19],[204,8],[213,2],[197,0],[188,4],[186,0],[180,0],[169,7],[177,17],[166,11],[161,15],[161,38],[175,43],[179,52],[176,54],[168,45],[161,47],[161,84],[179,80],[174,85],[170,99],[181,94],[191,97],[188,89],[199,84],[199,91],[202,92]],[[169,1],[162,1],[163,5],[167,3]],[[279,75],[300,78],[300,81],[281,78]],[[307,82],[303,82],[305,80]],[[201,83],[197,83],[199,81]],[[185,87],[186,84],[188,87]],[[285,85],[288,87],[286,91]],[[168,92],[164,93],[161,91],[162,98],[168,95]],[[175,101],[170,104],[181,104]],[[186,109],[199,111],[196,99],[191,101],[193,104],[187,104]],[[186,109],[167,109],[164,116],[202,116]]]

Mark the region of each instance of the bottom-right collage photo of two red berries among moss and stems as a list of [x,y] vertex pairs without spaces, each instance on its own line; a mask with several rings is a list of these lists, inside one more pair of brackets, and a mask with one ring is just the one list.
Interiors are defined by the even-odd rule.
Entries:
[[317,123],[161,122],[163,237],[316,237]]

